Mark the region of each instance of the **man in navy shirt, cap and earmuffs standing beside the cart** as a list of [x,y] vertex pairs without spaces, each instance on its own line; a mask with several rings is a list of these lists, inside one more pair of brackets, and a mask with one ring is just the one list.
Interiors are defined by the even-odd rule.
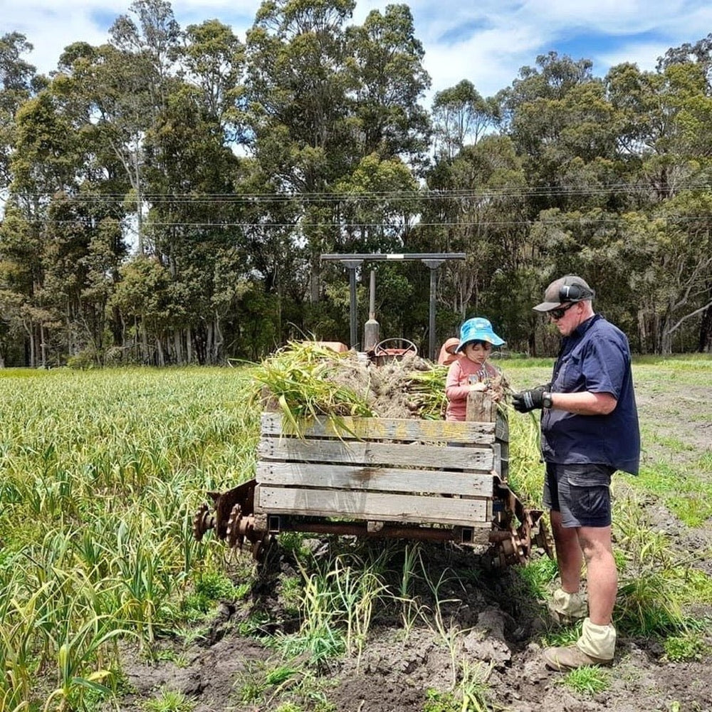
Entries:
[[[610,482],[616,470],[638,473],[640,431],[628,340],[596,314],[595,292],[580,277],[552,282],[534,307],[562,335],[549,384],[513,396],[515,409],[542,409],[546,464],[544,504],[561,587],[551,612],[560,620],[584,618],[575,645],[544,651],[555,670],[611,664],[616,643],[612,613],[618,577],[611,543]],[[588,616],[580,592],[586,562]]]

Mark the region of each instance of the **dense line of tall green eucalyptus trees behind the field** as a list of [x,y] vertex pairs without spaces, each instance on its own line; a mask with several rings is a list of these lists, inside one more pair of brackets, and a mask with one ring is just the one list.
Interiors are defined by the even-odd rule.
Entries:
[[[408,6],[265,0],[244,39],[137,0],[38,75],[0,37],[0,366],[256,359],[349,341],[323,253],[464,252],[436,335],[486,315],[550,353],[531,305],[562,273],[637,352],[712,350],[712,34],[604,78],[551,52],[483,98],[434,95]],[[376,273],[382,337],[429,341],[431,271]]]

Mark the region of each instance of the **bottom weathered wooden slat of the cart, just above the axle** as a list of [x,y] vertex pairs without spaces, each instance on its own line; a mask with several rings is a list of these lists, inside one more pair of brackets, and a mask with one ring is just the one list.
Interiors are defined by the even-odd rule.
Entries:
[[260,485],[257,514],[297,514],[408,523],[491,525],[491,501]]

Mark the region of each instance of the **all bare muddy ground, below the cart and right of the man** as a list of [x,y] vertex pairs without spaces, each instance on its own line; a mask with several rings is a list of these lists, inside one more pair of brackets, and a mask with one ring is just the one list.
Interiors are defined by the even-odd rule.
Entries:
[[[712,441],[712,398],[709,387],[695,389],[675,379],[646,388],[639,379],[638,400],[644,423],[644,460],[654,461],[670,451],[654,440],[679,422],[673,409],[684,407],[696,414],[676,428],[677,448],[673,459],[680,462],[709,451]],[[524,384],[526,385],[526,384]],[[673,406],[672,404],[676,404]],[[707,417],[700,417],[702,414]],[[647,442],[646,442],[647,438]],[[674,464],[674,463],[672,463]],[[629,487],[625,478],[614,483],[614,494]],[[712,574],[712,522],[689,530],[653,498],[642,498],[642,520],[656,530],[665,531],[680,555],[693,553],[693,565]],[[367,555],[363,547],[347,538],[318,542],[321,555],[330,547],[354,550]],[[389,569],[392,584],[402,570],[402,545],[392,545]],[[701,661],[669,662],[654,638],[633,639],[619,635],[614,666],[607,672],[607,689],[600,693],[577,693],[562,684],[562,674],[548,671],[541,656],[541,638],[550,630],[543,602],[533,600],[516,570],[491,571],[481,557],[456,545],[424,545],[423,560],[431,581],[442,581],[438,590],[443,616],[441,622],[459,631],[446,639],[439,632],[439,621],[426,612],[434,610],[431,587],[417,590],[424,616],[406,630],[397,608],[374,612],[367,644],[360,656],[325,662],[321,665],[303,658],[293,664],[299,674],[281,689],[263,691],[257,700],[244,701],[246,689],[264,680],[265,671],[285,663],[256,639],[241,635],[244,623],[261,612],[265,630],[294,632],[298,622],[281,600],[282,577],[295,573],[286,553],[276,554],[271,572],[253,587],[249,600],[222,604],[217,617],[201,639],[184,645],[164,639],[157,655],[147,661],[137,651],[125,651],[127,690],[120,709],[134,712],[145,709],[167,690],[178,691],[192,700],[195,712],[276,711],[290,700],[290,687],[308,691],[291,698],[298,710],[337,712],[450,712],[460,710],[509,710],[511,712],[712,712],[712,655]],[[227,562],[244,567],[244,562]],[[237,574],[236,574],[237,575]],[[699,607],[698,616],[712,616],[712,609]],[[712,645],[712,631],[706,634]],[[444,697],[454,686],[454,661],[466,661],[473,674],[486,681],[486,706],[445,706]],[[312,664],[310,664],[312,663]],[[313,678],[304,684],[305,676]],[[435,691],[435,692],[433,692]],[[438,699],[440,705],[437,706]],[[484,705],[485,703],[483,703]],[[166,712],[174,709],[164,707]],[[176,708],[177,709],[177,708]]]

